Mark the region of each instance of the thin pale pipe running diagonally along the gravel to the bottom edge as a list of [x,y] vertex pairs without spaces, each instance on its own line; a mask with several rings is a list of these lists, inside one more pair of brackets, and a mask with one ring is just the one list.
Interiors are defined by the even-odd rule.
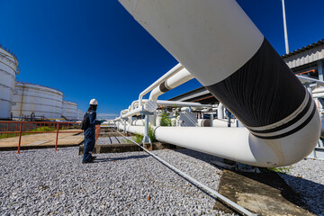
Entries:
[[[120,132],[118,132],[117,130],[115,130],[117,133],[121,134]],[[183,171],[181,171],[180,169],[176,168],[175,166],[172,166],[171,164],[167,163],[164,159],[157,157],[157,155],[149,152],[146,148],[142,147],[141,145],[139,145],[139,143],[135,142],[132,139],[129,139],[127,137],[125,137],[124,135],[121,134],[121,136],[125,139],[130,140],[131,142],[135,143],[136,145],[139,146],[139,148],[142,148],[146,153],[148,153],[148,155],[154,157],[155,159],[157,159],[159,162],[161,162],[163,165],[167,166],[168,168],[170,168],[171,170],[173,170],[177,175],[181,175],[182,177],[184,177],[184,179],[188,180],[189,182],[201,187],[202,189],[204,189],[206,192],[211,193],[211,195],[219,198],[221,201],[226,202],[229,204],[229,206],[231,206],[232,208],[248,215],[248,216],[254,216],[257,214],[252,213],[251,211],[248,211],[247,209],[243,208],[242,206],[238,205],[235,202],[232,202],[231,200],[229,200],[227,197],[221,195],[220,193],[217,193],[216,191],[212,190],[210,187],[206,186],[205,184],[202,184],[200,182],[198,182],[196,179],[194,179],[192,176],[185,174]]]

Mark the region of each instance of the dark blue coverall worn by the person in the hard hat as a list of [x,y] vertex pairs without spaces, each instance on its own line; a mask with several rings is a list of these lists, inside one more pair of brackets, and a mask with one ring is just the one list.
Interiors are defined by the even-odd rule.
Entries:
[[[92,155],[89,151],[94,150],[94,143],[95,143],[95,125],[98,125],[101,123],[101,121],[96,121],[96,112],[86,112],[89,118],[89,127],[84,131],[85,134],[85,152],[83,161],[90,161],[92,158]],[[85,114],[86,114],[85,113]]]

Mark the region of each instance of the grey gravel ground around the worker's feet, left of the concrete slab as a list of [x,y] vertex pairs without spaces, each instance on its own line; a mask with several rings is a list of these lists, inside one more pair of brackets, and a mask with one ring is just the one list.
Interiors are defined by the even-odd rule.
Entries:
[[[145,152],[100,154],[82,164],[78,148],[0,152],[0,215],[215,215],[214,198]],[[154,151],[218,189],[221,171],[188,149]],[[221,214],[220,214],[221,215]]]

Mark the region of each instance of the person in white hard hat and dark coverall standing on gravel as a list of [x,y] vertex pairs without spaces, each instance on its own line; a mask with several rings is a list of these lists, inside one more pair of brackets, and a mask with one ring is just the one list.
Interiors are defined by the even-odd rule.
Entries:
[[85,134],[85,151],[82,163],[93,163],[94,158],[90,152],[94,150],[95,143],[95,125],[101,124],[103,121],[96,120],[96,109],[97,109],[98,101],[92,99],[90,101],[90,107],[85,112],[84,120],[82,121],[81,128],[84,130]]

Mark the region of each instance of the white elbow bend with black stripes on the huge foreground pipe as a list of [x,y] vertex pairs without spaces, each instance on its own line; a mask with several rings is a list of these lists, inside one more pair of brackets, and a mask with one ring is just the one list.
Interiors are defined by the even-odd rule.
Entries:
[[257,166],[289,166],[309,156],[316,147],[321,132],[320,113],[311,95],[307,95],[305,100],[309,102],[283,121],[249,129],[249,148]]

